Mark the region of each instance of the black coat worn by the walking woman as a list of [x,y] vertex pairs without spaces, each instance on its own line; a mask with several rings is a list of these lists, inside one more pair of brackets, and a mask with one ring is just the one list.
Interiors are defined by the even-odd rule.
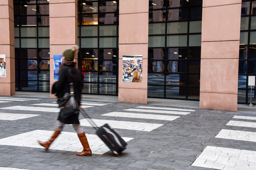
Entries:
[[[69,69],[71,69],[71,77],[69,76]],[[63,66],[59,72],[59,80],[52,86],[52,94],[56,93],[58,98],[61,98],[66,92],[70,92],[70,81],[73,81],[74,94],[78,105],[80,106],[81,93],[82,93],[82,81],[81,71],[75,68],[75,64]],[[60,109],[61,112],[61,109]],[[69,117],[58,116],[58,120],[65,124],[80,124],[78,120],[79,113],[73,114]]]

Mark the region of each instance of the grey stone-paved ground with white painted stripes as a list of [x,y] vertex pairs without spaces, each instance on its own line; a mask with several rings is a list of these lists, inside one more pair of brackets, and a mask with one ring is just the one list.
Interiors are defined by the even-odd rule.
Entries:
[[128,145],[115,157],[80,115],[93,156],[79,157],[82,145],[72,125],[47,152],[36,142],[54,130],[55,101],[49,93],[0,96],[0,169],[256,169],[256,107],[238,105],[239,112],[230,112],[199,109],[198,101],[148,98],[145,105],[83,95],[87,113],[98,125],[109,123]]

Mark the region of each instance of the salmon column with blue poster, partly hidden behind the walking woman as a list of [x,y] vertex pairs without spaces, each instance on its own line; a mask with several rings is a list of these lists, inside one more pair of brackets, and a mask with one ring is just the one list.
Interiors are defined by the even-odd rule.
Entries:
[[[77,44],[77,0],[50,0],[50,90],[54,82],[53,55],[62,55]],[[77,61],[77,54],[75,56]],[[50,93],[50,97],[55,95]]]

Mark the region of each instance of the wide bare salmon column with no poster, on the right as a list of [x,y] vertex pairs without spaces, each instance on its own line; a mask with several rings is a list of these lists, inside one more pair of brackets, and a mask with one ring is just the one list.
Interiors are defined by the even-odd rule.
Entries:
[[237,111],[241,0],[203,0],[200,108]]

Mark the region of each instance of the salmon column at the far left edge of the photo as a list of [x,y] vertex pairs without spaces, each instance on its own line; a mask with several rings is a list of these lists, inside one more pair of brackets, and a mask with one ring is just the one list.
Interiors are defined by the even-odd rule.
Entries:
[[0,54],[5,54],[6,77],[0,77],[0,95],[15,94],[13,0],[0,1]]

